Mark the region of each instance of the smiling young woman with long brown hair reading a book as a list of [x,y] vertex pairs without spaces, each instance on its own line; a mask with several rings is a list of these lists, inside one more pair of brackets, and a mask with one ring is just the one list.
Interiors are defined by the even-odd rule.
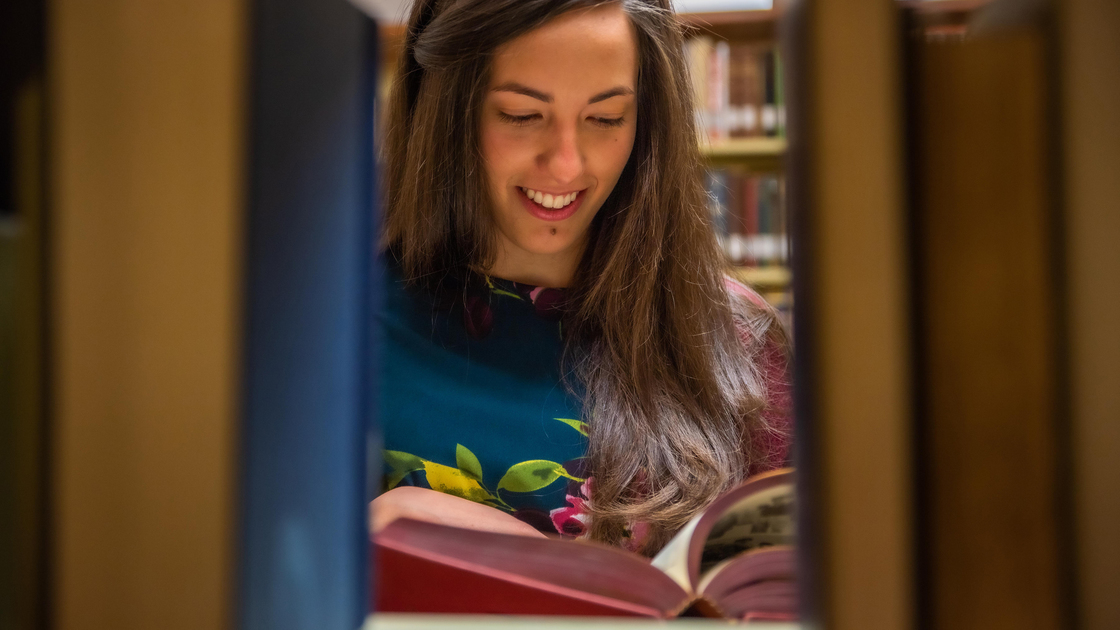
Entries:
[[785,337],[724,277],[668,0],[419,0],[386,123],[374,530],[653,554],[784,462]]

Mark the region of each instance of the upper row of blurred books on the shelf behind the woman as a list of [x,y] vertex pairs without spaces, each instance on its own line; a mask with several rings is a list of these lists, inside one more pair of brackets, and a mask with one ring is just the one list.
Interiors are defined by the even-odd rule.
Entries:
[[699,35],[685,40],[684,56],[708,141],[785,133],[782,59],[772,44]]

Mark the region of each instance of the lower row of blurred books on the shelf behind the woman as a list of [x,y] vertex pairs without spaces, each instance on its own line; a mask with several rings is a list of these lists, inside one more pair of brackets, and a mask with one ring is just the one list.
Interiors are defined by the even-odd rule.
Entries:
[[716,238],[732,266],[784,267],[790,261],[785,180],[734,168],[708,172]]

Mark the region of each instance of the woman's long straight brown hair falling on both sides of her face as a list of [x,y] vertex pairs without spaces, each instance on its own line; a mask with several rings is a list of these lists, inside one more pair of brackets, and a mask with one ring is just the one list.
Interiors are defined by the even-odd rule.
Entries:
[[591,537],[617,543],[646,522],[652,553],[764,456],[750,446],[774,430],[758,358],[784,340],[771,311],[724,285],[669,0],[418,0],[386,119],[382,244],[432,289],[494,263],[478,139],[491,58],[561,13],[612,1],[636,34],[640,114],[569,289],[564,361],[590,427]]

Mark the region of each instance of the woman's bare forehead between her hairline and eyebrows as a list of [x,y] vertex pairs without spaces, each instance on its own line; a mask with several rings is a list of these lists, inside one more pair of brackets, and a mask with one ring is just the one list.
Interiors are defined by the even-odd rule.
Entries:
[[635,87],[637,41],[620,3],[576,9],[500,47],[492,85],[517,81],[541,90],[597,92]]

